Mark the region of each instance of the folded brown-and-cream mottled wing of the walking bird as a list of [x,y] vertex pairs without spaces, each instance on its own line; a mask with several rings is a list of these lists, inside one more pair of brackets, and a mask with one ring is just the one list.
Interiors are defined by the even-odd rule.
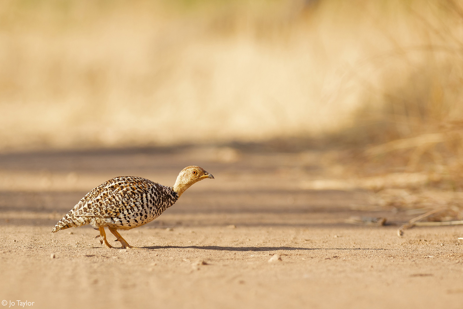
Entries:
[[115,177],[88,192],[76,205],[76,216],[120,217],[146,203],[152,181],[141,177]]

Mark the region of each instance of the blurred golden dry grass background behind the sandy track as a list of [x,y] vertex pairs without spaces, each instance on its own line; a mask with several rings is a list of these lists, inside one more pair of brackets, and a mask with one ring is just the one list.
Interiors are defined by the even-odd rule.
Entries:
[[350,175],[457,190],[462,7],[2,1],[0,151],[292,141],[347,149],[330,162]]

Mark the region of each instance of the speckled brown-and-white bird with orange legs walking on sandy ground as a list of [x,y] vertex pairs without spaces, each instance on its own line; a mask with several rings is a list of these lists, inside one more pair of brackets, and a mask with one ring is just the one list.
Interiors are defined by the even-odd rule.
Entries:
[[100,244],[106,240],[105,227],[119,241],[122,248],[134,248],[122,238],[118,230],[129,230],[153,221],[194,183],[211,178],[212,174],[195,165],[185,167],[178,174],[173,187],[163,186],[142,177],[114,177],[88,192],[51,231],[56,233],[69,227],[90,224],[100,231]]

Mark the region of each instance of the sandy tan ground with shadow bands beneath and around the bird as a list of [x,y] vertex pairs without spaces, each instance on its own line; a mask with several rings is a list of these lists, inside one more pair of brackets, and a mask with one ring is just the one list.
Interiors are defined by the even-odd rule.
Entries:
[[[410,216],[356,210],[368,204],[367,192],[301,189],[325,173],[319,157],[310,158],[230,149],[1,155],[8,181],[0,182],[0,301],[4,308],[10,301],[13,308],[18,301],[34,302],[29,308],[462,308],[462,227],[415,227],[400,238],[396,229]],[[171,185],[190,164],[215,179],[124,232],[138,249],[108,249],[91,227],[50,233],[111,177]],[[389,225],[345,223],[352,215],[386,217]],[[281,260],[269,262],[275,254]]]

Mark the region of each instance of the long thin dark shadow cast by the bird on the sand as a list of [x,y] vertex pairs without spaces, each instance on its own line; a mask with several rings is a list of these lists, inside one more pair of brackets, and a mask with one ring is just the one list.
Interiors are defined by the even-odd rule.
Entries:
[[390,250],[382,248],[304,248],[304,247],[223,247],[223,246],[146,246],[141,249],[200,249],[218,251],[277,251],[277,250]]

